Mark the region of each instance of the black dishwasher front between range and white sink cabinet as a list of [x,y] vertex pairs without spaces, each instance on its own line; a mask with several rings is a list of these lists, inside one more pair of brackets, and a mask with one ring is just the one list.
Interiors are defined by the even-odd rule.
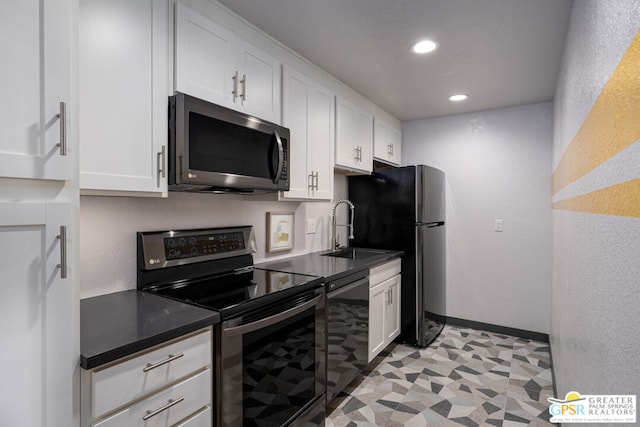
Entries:
[[366,367],[369,350],[369,270],[329,281],[327,402]]

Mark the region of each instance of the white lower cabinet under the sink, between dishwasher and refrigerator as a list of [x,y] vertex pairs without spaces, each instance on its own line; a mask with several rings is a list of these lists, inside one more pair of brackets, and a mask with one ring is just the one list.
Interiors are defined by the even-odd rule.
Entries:
[[400,335],[400,281],[400,259],[370,270],[368,362]]

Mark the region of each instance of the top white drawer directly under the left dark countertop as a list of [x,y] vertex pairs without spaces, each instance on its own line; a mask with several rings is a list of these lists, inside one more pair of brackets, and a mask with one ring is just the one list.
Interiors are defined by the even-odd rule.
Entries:
[[198,369],[210,367],[211,354],[208,330],[91,371],[91,416],[97,418]]

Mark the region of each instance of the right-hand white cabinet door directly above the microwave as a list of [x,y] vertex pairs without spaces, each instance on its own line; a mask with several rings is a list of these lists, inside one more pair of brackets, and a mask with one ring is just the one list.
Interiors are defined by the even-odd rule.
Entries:
[[238,48],[237,101],[247,114],[279,124],[282,103],[280,62],[240,39]]

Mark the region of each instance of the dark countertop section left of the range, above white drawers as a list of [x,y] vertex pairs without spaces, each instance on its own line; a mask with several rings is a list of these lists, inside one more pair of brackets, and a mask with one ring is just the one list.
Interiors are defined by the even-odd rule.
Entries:
[[220,322],[220,315],[136,290],[80,300],[80,366],[92,369]]

